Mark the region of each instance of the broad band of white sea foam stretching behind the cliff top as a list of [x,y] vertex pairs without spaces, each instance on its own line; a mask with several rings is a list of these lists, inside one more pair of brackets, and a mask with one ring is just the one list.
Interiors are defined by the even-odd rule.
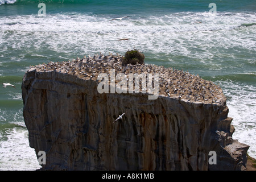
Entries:
[[[24,45],[31,47],[31,41],[34,42],[32,46],[38,50],[51,47],[55,51],[68,52],[72,48],[79,54],[108,52],[111,49],[124,52],[136,46],[148,52],[172,52],[174,55],[193,53],[201,59],[213,56],[207,50],[214,48],[216,43],[224,49],[234,46],[255,49],[255,41],[245,38],[244,32],[232,35],[234,28],[254,18],[253,14],[209,16],[207,13],[183,13],[109,21],[110,18],[86,14],[57,14],[43,18],[24,15],[0,20],[0,24],[3,32],[10,36],[11,41],[5,39],[5,43],[15,49],[21,49]],[[11,22],[13,24],[10,25]],[[10,31],[20,36],[9,34]],[[239,31],[235,33],[239,34]],[[118,38],[130,38],[131,41],[115,41]],[[177,40],[180,43],[176,43]],[[194,51],[192,48],[195,44],[205,49],[205,52]]]

